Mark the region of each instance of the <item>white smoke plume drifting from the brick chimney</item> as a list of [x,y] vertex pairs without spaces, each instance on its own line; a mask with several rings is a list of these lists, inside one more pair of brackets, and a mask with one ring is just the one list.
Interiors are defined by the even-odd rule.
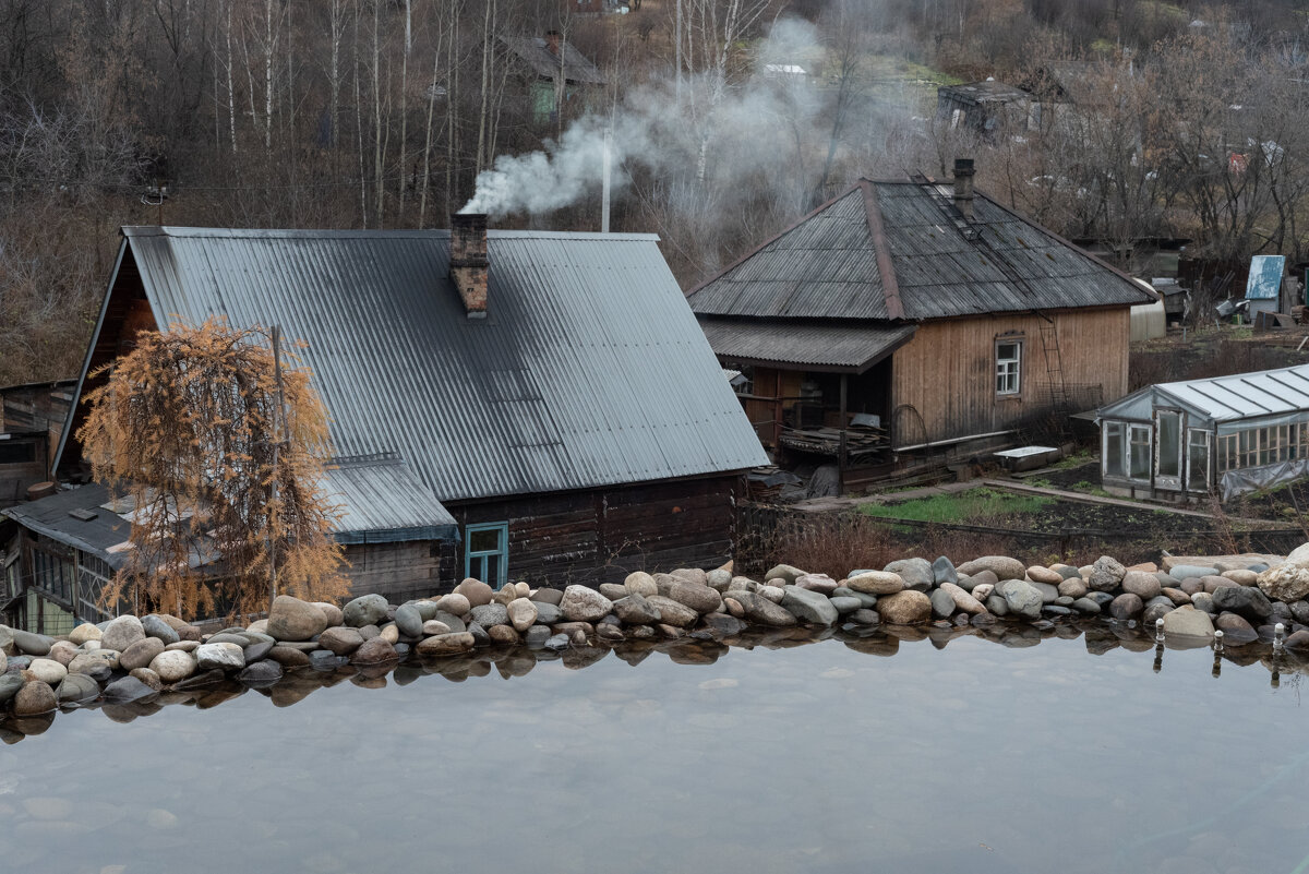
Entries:
[[[793,184],[802,175],[797,162],[802,170],[809,157],[805,140],[814,133],[822,97],[802,77],[767,65],[793,64],[817,42],[813,25],[780,20],[761,43],[755,75],[745,84],[733,86],[712,73],[687,76],[681,102],[673,81],[635,89],[611,116],[579,119],[545,150],[499,156],[478,174],[476,192],[459,212],[486,212],[492,218],[541,215],[594,196],[607,128],[615,195],[627,182],[624,167],[637,166],[661,177],[670,201],[695,199],[702,208],[707,196],[720,208],[726,205],[723,200],[730,200],[736,188]],[[808,196],[800,190],[779,194],[792,196],[797,207]]]

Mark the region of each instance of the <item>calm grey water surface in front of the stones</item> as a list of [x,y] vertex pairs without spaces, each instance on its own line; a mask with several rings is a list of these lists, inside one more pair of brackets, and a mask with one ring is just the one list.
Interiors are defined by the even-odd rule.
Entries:
[[1301,690],[1212,663],[825,640],[68,713],[0,748],[0,870],[1304,871]]

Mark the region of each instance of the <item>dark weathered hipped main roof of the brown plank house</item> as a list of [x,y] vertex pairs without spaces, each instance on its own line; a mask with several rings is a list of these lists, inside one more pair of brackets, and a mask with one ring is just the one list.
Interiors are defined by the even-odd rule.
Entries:
[[[982,194],[970,239],[941,207],[952,196],[950,186],[860,181],[691,290],[691,307],[702,315],[889,319],[880,247],[911,321],[1153,302],[1128,277]],[[869,209],[880,213],[884,239],[874,239]]]

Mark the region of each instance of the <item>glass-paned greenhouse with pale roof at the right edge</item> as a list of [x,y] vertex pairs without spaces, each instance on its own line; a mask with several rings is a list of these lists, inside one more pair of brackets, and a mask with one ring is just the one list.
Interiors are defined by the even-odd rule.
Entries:
[[1105,489],[1228,500],[1309,476],[1309,364],[1161,382],[1101,407]]

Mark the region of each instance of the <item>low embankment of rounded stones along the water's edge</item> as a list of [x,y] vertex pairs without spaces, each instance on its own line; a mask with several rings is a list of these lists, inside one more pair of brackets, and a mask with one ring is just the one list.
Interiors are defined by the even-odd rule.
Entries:
[[1309,649],[1309,544],[1274,568],[1251,561],[1213,567],[1124,568],[1094,564],[1025,567],[987,556],[907,559],[844,580],[778,565],[763,581],[730,569],[637,572],[598,589],[493,590],[465,580],[440,598],[389,604],[364,595],[336,607],[281,595],[267,619],[203,633],[174,616],[119,616],[63,637],[0,625],[0,713],[33,717],[59,707],[131,704],[161,691],[225,680],[276,684],[288,671],[393,666],[402,658],[459,657],[478,648],[537,650],[617,646],[691,637],[723,641],[747,629],[812,625],[870,629],[932,623],[986,628],[1021,621],[1035,629],[1102,616],[1204,641],[1223,631],[1232,644],[1289,631],[1288,649]]

